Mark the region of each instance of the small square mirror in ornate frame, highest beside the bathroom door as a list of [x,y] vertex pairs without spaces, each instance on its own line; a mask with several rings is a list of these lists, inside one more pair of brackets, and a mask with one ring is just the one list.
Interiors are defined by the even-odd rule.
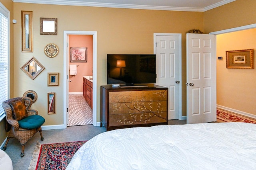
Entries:
[[57,35],[57,18],[40,18],[41,35]]

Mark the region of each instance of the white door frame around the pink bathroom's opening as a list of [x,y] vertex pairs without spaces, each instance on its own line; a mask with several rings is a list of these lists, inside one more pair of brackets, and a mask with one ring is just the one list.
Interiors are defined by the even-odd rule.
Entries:
[[63,123],[64,128],[67,128],[67,91],[68,91],[68,35],[92,35],[93,44],[93,64],[92,64],[92,76],[93,76],[93,102],[92,102],[92,125],[97,126],[97,31],[64,31],[63,40]]

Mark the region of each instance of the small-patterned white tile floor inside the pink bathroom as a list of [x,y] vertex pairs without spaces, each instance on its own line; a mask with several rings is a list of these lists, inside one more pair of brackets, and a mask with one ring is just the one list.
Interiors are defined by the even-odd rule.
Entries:
[[68,126],[92,125],[92,108],[83,94],[68,95]]

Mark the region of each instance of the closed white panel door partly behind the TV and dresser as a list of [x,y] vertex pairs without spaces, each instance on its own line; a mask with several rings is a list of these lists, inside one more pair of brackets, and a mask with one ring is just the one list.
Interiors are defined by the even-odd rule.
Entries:
[[155,33],[156,84],[168,87],[168,119],[182,119],[181,34]]

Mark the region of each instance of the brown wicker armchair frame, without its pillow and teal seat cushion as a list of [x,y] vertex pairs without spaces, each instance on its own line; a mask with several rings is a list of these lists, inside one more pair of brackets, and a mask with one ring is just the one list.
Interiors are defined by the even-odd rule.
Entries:
[[[28,97],[23,97],[24,101],[25,101],[25,105],[27,108],[27,112],[28,112],[28,116],[30,115],[38,115],[38,111],[35,109],[31,109],[31,105],[32,105],[32,99],[28,98]],[[9,100],[6,100],[2,103],[2,107],[4,108],[4,111],[6,113],[6,123],[9,123],[9,125],[11,125],[10,128],[10,133],[8,134],[7,137],[7,141],[3,147],[3,150],[6,150],[6,146],[10,140],[10,138],[15,138],[20,142],[20,145],[22,146],[22,151],[20,156],[23,157],[24,156],[24,149],[25,149],[25,145],[28,142],[28,140],[30,140],[35,134],[36,132],[39,131],[40,135],[41,135],[41,141],[44,141],[44,137],[42,135],[42,128],[41,126],[35,129],[22,129],[19,127],[19,123],[18,121],[16,121],[15,119],[13,119],[12,117],[12,109],[10,107],[10,103],[11,102],[15,102],[18,100],[21,100],[22,98],[18,97],[18,98],[12,98]]]

